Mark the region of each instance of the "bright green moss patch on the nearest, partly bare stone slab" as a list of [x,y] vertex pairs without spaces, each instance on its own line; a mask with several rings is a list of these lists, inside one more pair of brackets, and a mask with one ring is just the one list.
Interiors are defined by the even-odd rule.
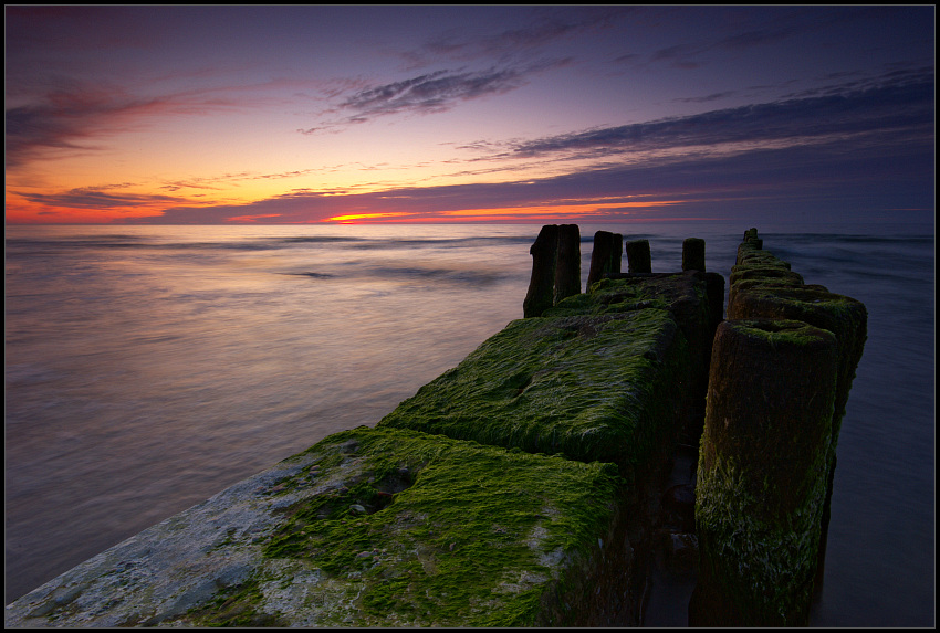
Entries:
[[[345,479],[280,510],[284,521],[263,544],[272,569],[300,565],[335,588],[338,609],[317,626],[550,624],[544,601],[578,584],[566,574],[609,534],[623,484],[610,464],[388,428],[337,433],[295,458]],[[189,623],[276,619],[259,608],[276,582],[261,574],[222,592]]]

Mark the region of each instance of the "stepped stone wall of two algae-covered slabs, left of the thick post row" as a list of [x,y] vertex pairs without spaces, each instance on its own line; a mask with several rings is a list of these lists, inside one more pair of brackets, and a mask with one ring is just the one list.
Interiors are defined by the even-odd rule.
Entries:
[[[477,440],[397,426],[401,419],[456,421],[445,432],[463,432],[462,412],[420,415],[436,404],[416,394],[411,413],[331,436],[96,557],[97,571],[76,568],[51,600],[36,603],[34,616],[60,625],[69,618],[485,625],[638,619],[633,603],[643,592],[649,534],[640,489],[668,460],[670,435],[701,408],[683,386],[693,357],[687,333],[707,323],[702,281],[692,271],[608,278],[599,292],[553,298],[549,314],[514,321],[456,368],[462,384],[448,372],[422,390],[462,393],[477,407],[464,421],[502,415],[519,424],[490,425]],[[531,358],[512,351],[540,342]],[[677,369],[680,387],[664,378]],[[593,381],[612,388],[578,390]],[[575,405],[564,410],[564,401]],[[554,439],[526,429],[526,407],[546,412]],[[556,409],[565,419],[588,413],[565,428],[547,416]],[[616,468],[572,458],[578,439],[606,451]],[[605,445],[616,443],[630,445]],[[468,587],[468,578],[478,582]]]

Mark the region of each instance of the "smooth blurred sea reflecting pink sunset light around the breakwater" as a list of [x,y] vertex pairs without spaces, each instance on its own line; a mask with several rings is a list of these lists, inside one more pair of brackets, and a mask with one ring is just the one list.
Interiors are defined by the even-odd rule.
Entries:
[[[706,240],[751,226],[581,226]],[[755,225],[806,283],[863,302],[817,626],[933,626],[934,226]],[[374,425],[522,317],[540,226],[10,225],[6,602],[323,437]],[[626,270],[626,262],[624,262]],[[683,625],[680,609],[648,624]],[[670,620],[671,619],[671,620]]]

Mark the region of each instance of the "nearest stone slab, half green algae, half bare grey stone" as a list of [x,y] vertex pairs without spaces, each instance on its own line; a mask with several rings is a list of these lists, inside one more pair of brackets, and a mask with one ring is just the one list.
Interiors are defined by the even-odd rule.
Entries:
[[7,625],[629,623],[620,485],[609,464],[358,428],[48,582]]

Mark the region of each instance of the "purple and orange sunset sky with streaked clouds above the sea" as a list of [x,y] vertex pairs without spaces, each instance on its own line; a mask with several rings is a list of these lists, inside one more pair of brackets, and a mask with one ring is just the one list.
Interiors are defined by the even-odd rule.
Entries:
[[933,6],[6,7],[6,222],[933,222]]

